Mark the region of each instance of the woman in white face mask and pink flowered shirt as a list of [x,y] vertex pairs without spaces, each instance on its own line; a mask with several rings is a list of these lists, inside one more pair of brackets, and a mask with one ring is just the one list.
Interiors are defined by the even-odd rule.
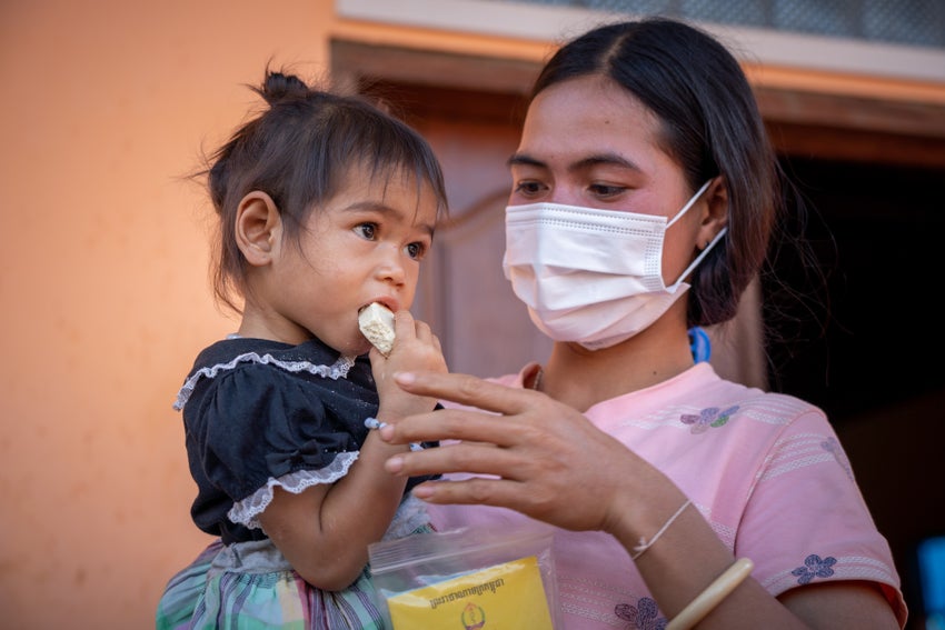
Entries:
[[554,349],[493,381],[399,374],[451,407],[381,437],[459,443],[388,470],[451,473],[414,490],[440,529],[561,528],[568,630],[903,627],[824,413],[693,360],[688,328],[734,317],[783,209],[734,57],[672,20],[594,29],[538,77],[509,164],[504,267]]

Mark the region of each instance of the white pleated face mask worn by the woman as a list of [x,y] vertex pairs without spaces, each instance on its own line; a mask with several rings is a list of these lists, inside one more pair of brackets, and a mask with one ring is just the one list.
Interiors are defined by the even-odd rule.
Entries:
[[505,276],[528,314],[556,341],[598,350],[659,319],[689,288],[683,282],[722,239],[706,246],[679,278],[663,281],[663,240],[712,180],[666,217],[560,203],[506,208]]

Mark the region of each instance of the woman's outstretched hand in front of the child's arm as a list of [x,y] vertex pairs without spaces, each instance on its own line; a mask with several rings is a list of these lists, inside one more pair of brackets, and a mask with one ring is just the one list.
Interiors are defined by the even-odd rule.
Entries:
[[431,503],[497,506],[565,529],[615,533],[627,494],[641,478],[659,474],[578,411],[540,392],[466,374],[407,372],[396,381],[415,394],[479,408],[409,416],[381,429],[385,441],[398,444],[460,440],[397,454],[387,461],[390,472],[493,476],[414,489]]

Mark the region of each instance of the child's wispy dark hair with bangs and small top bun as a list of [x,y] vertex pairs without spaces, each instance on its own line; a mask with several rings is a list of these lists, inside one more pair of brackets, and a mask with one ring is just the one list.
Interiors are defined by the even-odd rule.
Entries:
[[233,298],[247,289],[246,260],[237,247],[235,220],[240,200],[255,190],[272,199],[291,238],[356,172],[371,179],[412,178],[418,194],[427,183],[437,214],[446,212],[436,154],[404,121],[365,97],[310,88],[294,74],[268,69],[262,86],[251,89],[268,109],[212,153],[201,173],[220,220],[211,270],[218,302],[240,312]]

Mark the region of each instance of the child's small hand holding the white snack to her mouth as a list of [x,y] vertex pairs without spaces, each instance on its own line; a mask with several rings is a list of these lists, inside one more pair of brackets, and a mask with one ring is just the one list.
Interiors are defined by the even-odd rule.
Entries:
[[371,372],[380,398],[378,418],[396,422],[404,416],[431,410],[436,400],[407,393],[394,382],[395,372],[431,371],[447,372],[439,339],[429,324],[415,320],[408,310],[400,310],[394,320],[395,341],[390,353],[385,357],[371,348]]

